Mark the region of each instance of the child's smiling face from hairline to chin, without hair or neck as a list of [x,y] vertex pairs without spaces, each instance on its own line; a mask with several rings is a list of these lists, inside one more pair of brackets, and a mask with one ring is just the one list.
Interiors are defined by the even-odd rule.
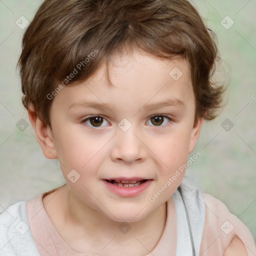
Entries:
[[[115,55],[112,64],[110,80],[116,87],[107,85],[102,66],[85,82],[54,96],[52,134],[49,127],[47,131],[79,202],[113,220],[137,221],[161,206],[180,184],[181,171],[171,184],[167,181],[186,163],[202,120],[194,124],[195,98],[185,60],[161,60],[137,51]],[[179,79],[177,68],[183,73]],[[88,107],[89,102],[100,107]],[[91,115],[98,118],[89,119]],[[79,178],[71,182],[67,176]],[[129,188],[105,181],[129,177],[149,181]],[[154,196],[159,190],[161,195]]]

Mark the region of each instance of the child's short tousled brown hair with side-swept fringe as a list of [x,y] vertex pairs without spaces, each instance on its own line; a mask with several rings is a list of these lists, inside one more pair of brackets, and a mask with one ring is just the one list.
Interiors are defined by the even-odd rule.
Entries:
[[[161,58],[185,58],[195,120],[211,120],[223,93],[223,86],[211,81],[218,58],[214,38],[187,0],[44,0],[22,38],[17,63],[22,103],[26,109],[33,103],[40,119],[50,125],[52,100],[47,95],[60,83],[75,85],[107,64],[114,52],[139,48]],[[67,80],[78,63],[79,72]]]

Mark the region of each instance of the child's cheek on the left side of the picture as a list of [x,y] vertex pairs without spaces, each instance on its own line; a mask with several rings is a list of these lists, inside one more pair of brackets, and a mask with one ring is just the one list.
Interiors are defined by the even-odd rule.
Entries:
[[93,201],[89,191],[95,186],[103,144],[74,133],[58,146],[60,167],[67,184],[81,200]]

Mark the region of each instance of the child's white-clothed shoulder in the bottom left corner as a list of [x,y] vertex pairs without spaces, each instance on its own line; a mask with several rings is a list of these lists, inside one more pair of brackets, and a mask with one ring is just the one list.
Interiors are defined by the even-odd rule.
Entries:
[[0,255],[39,255],[29,228],[25,201],[10,205],[0,214],[0,230]]

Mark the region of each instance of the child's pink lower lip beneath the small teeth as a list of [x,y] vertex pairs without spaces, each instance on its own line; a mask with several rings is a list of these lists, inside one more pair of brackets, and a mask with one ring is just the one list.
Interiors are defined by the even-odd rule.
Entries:
[[126,186],[118,186],[118,185],[112,184],[103,179],[103,182],[106,184],[106,187],[109,190],[123,197],[131,197],[131,196],[136,196],[140,194],[151,184],[152,181],[153,181],[152,179],[148,179],[147,181],[141,183],[138,186],[126,187]]

